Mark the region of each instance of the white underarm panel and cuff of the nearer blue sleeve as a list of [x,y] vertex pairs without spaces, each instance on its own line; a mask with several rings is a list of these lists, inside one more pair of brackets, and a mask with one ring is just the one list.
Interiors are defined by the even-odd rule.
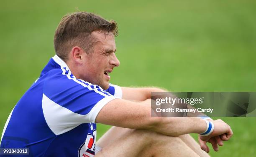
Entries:
[[42,108],[47,125],[55,135],[60,135],[74,129],[82,123],[95,123],[95,119],[108,102],[118,97],[109,96],[98,101],[86,115],[74,113],[66,107],[62,107],[43,94]]

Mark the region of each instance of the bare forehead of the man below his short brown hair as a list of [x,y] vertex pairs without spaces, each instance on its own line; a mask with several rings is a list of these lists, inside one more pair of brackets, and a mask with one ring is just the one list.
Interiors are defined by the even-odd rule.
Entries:
[[94,31],[92,32],[92,35],[97,46],[100,46],[104,49],[116,49],[115,36],[112,32],[106,34],[102,31]]

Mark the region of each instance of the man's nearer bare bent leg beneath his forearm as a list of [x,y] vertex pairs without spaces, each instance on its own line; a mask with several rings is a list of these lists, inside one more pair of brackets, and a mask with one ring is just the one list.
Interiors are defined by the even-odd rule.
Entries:
[[[97,143],[97,145],[99,144]],[[113,142],[106,144],[95,157],[199,156],[179,137],[166,136],[150,130],[133,129],[123,133],[121,137],[115,138]]]

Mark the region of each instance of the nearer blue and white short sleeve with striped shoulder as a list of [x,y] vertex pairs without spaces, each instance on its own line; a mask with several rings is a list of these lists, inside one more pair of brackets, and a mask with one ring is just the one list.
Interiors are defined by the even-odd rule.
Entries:
[[54,75],[44,83],[44,117],[56,135],[82,123],[95,122],[102,107],[118,98],[100,86],[68,76]]

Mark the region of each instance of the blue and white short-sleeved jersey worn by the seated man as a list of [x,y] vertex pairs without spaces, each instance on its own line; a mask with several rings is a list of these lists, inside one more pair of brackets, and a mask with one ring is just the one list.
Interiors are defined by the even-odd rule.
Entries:
[[0,147],[29,148],[24,157],[93,157],[95,119],[118,97],[119,86],[103,90],[76,79],[55,55],[10,113]]

